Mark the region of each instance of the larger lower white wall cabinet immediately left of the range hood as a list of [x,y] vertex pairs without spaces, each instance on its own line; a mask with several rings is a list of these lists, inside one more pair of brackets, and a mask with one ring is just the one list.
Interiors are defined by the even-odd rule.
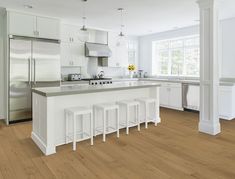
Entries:
[[84,43],[61,43],[61,66],[84,66]]

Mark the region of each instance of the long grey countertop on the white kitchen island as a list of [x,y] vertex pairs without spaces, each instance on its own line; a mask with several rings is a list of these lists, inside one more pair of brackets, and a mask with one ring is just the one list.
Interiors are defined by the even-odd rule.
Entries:
[[160,87],[160,83],[148,82],[148,81],[132,81],[132,82],[120,82],[108,85],[71,85],[71,86],[60,86],[60,87],[46,87],[46,88],[34,88],[33,93],[37,93],[42,96],[64,96],[73,94],[84,94],[84,93],[96,93],[105,91],[116,91],[116,90],[128,90],[138,88],[149,88],[149,87]]

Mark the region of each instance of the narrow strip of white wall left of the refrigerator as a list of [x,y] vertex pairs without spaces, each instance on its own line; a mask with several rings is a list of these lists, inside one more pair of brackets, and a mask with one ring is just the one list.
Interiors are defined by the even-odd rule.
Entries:
[[0,9],[0,119],[4,118],[4,50],[3,50],[3,12]]

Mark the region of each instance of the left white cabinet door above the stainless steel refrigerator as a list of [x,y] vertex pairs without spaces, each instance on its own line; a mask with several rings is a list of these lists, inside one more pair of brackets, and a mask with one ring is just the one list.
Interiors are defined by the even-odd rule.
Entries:
[[36,17],[16,12],[9,12],[9,34],[34,36],[36,31]]

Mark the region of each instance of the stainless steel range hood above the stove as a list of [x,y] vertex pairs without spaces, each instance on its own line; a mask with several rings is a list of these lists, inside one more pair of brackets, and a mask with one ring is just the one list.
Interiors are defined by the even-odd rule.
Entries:
[[106,44],[87,42],[85,44],[85,55],[86,57],[110,57],[112,52]]

